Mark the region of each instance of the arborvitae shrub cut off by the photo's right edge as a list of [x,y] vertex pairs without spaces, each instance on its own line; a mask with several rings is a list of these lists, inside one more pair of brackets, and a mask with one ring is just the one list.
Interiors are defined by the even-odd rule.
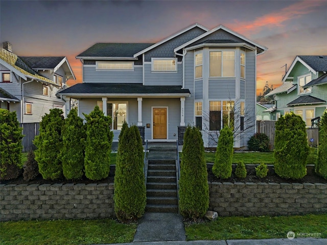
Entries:
[[323,113],[319,125],[319,148],[316,173],[327,179],[327,111]]

